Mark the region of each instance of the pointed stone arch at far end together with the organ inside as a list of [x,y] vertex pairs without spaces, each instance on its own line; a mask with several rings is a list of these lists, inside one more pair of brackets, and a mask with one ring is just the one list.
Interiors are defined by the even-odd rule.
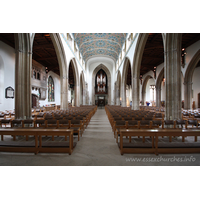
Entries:
[[[100,76],[98,76],[98,72]],[[92,104],[95,105],[95,100],[97,103],[98,99],[105,99],[105,105],[111,105],[111,74],[105,65],[100,64],[94,69],[92,74],[92,86]]]

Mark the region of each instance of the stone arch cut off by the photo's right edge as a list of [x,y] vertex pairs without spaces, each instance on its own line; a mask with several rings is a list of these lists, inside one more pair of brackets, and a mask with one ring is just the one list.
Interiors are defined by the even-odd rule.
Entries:
[[190,63],[188,64],[184,78],[184,109],[192,108],[192,76],[194,70],[200,61],[200,49],[195,53]]

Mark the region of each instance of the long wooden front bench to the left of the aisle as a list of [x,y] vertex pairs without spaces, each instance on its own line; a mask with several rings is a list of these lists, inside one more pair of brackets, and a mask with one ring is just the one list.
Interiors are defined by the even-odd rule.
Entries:
[[[32,153],[69,153],[71,155],[75,143],[73,142],[73,130],[70,129],[25,129],[25,128],[1,128],[0,129],[1,142],[0,151],[5,152],[32,152]],[[16,136],[34,136],[35,143],[31,144],[29,141],[17,142],[17,141],[3,141],[4,135]],[[65,136],[65,141],[42,144],[42,136]],[[66,142],[69,137],[69,142]],[[39,139],[39,141],[38,141]]]

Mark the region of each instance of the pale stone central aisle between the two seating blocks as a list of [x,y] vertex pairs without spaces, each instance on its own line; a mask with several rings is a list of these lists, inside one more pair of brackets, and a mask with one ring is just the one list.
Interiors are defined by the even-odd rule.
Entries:
[[97,109],[72,156],[80,156],[77,165],[120,165],[122,156],[105,109]]

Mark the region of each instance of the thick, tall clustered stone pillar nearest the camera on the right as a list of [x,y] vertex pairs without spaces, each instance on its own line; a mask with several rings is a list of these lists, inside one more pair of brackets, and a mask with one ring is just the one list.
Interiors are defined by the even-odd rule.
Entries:
[[167,34],[165,50],[167,120],[181,119],[181,40],[179,34]]

